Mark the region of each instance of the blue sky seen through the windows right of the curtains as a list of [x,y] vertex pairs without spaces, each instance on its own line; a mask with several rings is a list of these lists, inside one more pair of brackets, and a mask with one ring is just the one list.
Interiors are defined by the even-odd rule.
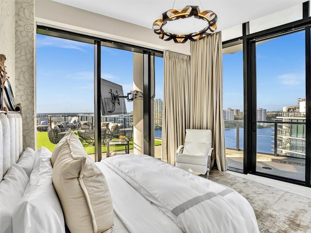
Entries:
[[[305,33],[297,32],[256,45],[257,108],[279,111],[306,97]],[[223,108],[243,110],[242,51],[223,55]]]

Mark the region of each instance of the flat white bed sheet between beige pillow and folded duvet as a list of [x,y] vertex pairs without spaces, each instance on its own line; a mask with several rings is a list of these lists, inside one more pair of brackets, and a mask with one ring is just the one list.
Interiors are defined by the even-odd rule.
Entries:
[[[150,204],[118,174],[104,163],[97,162],[96,165],[102,170],[108,183],[114,212],[129,233],[182,233],[168,216]],[[113,233],[115,231],[114,229]],[[122,231],[116,231],[119,232]]]

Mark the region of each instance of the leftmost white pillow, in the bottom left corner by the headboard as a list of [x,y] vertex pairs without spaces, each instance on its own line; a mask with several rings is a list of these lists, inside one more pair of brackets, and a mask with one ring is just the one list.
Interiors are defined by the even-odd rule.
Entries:
[[12,164],[0,183],[0,230],[12,233],[12,215],[25,192],[29,178],[17,164]]

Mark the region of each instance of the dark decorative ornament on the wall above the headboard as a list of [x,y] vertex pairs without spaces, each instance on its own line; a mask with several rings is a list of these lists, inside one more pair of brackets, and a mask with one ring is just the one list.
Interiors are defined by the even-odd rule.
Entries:
[[[0,54],[0,76],[1,76],[1,90],[0,90],[0,105],[1,105],[1,111],[14,111],[14,112],[21,112],[21,105],[20,103],[15,102],[15,98],[13,95],[12,87],[9,82],[9,77],[7,76],[7,72],[5,71],[4,62],[6,60],[6,57],[4,54]],[[6,98],[4,98],[4,93],[6,95]],[[6,103],[7,108],[4,107],[3,103]]]

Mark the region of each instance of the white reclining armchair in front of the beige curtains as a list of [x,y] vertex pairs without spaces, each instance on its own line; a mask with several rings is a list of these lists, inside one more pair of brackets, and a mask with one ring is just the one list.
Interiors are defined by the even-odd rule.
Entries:
[[193,174],[209,176],[212,146],[210,130],[186,130],[185,145],[179,146],[175,166]]

